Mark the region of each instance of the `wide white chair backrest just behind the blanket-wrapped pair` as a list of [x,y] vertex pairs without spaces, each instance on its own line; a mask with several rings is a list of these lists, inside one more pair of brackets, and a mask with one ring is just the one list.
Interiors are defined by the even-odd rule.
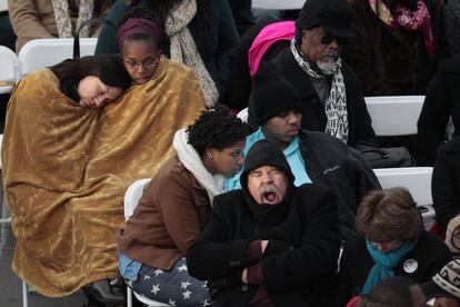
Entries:
[[[80,55],[93,56],[97,38],[80,39]],[[73,57],[73,39],[34,39],[27,42],[19,51],[22,76],[31,71],[57,65]]]

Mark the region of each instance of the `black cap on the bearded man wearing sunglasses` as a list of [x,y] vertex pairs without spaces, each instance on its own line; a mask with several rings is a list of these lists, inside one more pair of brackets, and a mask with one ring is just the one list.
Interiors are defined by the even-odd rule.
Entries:
[[298,29],[321,27],[329,34],[350,38],[353,11],[347,0],[308,0],[296,21]]

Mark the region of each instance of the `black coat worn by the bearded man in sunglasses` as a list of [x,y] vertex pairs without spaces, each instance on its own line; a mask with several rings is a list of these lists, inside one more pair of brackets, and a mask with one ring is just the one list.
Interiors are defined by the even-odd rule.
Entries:
[[[300,68],[290,48],[281,51],[272,63],[299,92],[302,100],[301,127],[307,130],[324,131],[327,123],[324,107],[310,81],[310,77]],[[348,145],[351,147],[357,147],[357,145],[376,146],[376,133],[371,127],[371,118],[359,81],[343,61],[342,73],[347,90]]]

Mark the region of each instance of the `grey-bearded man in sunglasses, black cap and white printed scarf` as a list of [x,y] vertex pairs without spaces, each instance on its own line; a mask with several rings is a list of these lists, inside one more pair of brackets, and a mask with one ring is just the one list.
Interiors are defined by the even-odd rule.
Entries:
[[296,39],[272,62],[301,97],[302,128],[326,131],[352,147],[374,146],[359,81],[340,57],[353,37],[352,22],[346,0],[309,0],[296,22]]

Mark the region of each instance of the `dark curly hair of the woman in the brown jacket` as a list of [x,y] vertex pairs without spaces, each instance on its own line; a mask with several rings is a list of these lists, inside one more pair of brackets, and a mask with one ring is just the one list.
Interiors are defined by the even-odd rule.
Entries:
[[187,132],[189,143],[201,157],[208,148],[221,150],[243,140],[249,129],[241,119],[230,115],[227,107],[218,106],[202,111]]

